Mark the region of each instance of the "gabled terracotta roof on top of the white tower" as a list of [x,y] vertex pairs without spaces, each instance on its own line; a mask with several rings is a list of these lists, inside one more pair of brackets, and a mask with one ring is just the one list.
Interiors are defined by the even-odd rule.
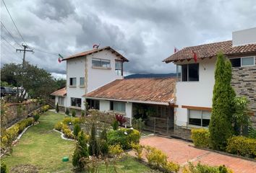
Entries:
[[122,56],[120,53],[116,52],[116,50],[114,50],[113,48],[111,48],[110,46],[106,46],[106,47],[103,47],[103,48],[98,48],[98,49],[93,49],[93,50],[88,50],[88,51],[85,51],[85,52],[82,52],[82,53],[77,53],[73,56],[69,56],[67,58],[64,58],[62,61],[66,61],[66,60],[69,60],[69,59],[72,59],[72,58],[79,58],[81,56],[88,56],[92,53],[98,53],[98,52],[101,52],[102,50],[109,50],[111,51],[111,53],[114,53],[116,56],[120,56],[121,59],[123,59],[124,61],[127,61],[127,58],[124,58],[124,56]]

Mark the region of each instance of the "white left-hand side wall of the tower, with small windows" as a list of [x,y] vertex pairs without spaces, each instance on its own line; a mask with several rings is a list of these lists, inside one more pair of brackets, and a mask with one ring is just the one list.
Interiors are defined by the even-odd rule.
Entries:
[[[69,87],[69,78],[77,78],[77,86]],[[85,109],[84,100],[82,95],[85,94],[85,88],[80,88],[80,77],[85,77],[85,58],[74,58],[67,61],[67,107],[71,106],[71,97],[81,98],[81,108]]]

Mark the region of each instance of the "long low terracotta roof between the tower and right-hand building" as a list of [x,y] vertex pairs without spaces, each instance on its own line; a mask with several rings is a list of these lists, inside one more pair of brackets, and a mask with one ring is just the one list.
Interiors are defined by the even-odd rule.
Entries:
[[174,78],[117,79],[84,97],[168,104],[174,98]]

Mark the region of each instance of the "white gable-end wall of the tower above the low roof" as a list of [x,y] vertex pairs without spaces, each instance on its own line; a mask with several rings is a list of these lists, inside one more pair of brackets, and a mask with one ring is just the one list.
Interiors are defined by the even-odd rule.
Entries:
[[[88,92],[92,92],[98,87],[108,84],[116,79],[123,79],[123,76],[116,75],[115,72],[115,59],[120,59],[116,57],[113,53],[108,50],[103,50],[98,53],[93,53],[88,58]],[[111,69],[99,69],[92,68],[92,58],[102,58],[111,61]]]

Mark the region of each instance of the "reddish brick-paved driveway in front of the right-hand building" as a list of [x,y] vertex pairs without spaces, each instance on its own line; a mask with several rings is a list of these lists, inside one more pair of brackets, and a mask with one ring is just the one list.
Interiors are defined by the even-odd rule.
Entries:
[[233,169],[237,173],[255,173],[256,161],[248,161],[233,156],[226,156],[212,151],[206,151],[194,148],[192,143],[187,143],[174,138],[162,138],[159,136],[149,136],[140,140],[142,145],[154,146],[164,153],[168,154],[168,160],[176,161],[179,164],[186,165],[187,161],[202,164],[221,165]]

